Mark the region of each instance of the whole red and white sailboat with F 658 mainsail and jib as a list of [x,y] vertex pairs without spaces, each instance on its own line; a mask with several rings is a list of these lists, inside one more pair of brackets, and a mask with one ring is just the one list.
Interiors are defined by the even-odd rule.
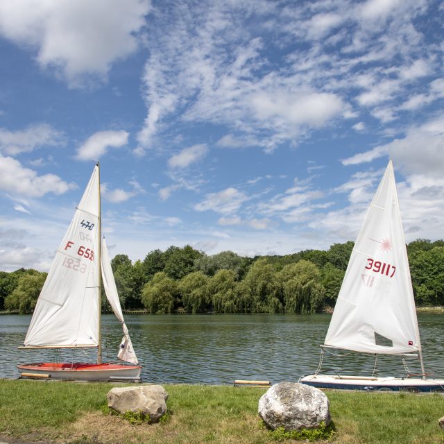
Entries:
[[[123,328],[117,357],[129,364],[102,362],[101,287]],[[22,377],[52,379],[139,379],[142,366],[128,333],[105,239],[101,239],[100,164],[56,252],[35,305],[21,349],[97,348],[97,361],[37,362],[17,366]]]

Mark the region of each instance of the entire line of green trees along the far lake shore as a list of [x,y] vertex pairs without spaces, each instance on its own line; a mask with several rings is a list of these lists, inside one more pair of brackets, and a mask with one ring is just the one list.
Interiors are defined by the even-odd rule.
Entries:
[[[134,263],[116,255],[111,266],[126,310],[310,314],[334,307],[353,246],[253,258],[171,246]],[[407,253],[416,305],[444,305],[444,241],[417,239]],[[0,271],[0,309],[33,311],[45,278],[33,269]],[[103,296],[102,309],[109,308]]]

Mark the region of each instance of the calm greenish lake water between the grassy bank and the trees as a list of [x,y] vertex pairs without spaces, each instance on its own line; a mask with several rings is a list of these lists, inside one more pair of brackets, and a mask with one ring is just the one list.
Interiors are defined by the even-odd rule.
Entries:
[[[442,314],[419,314],[427,371],[444,377]],[[0,377],[17,377],[17,363],[42,360],[94,361],[92,352],[17,350],[31,316],[0,316]],[[232,384],[234,379],[297,381],[318,366],[330,315],[126,315],[133,345],[152,382]],[[103,359],[114,360],[121,327],[114,315],[102,316]],[[336,356],[337,355],[337,356]],[[323,368],[338,373],[371,373],[372,356],[347,352],[325,355]],[[409,359],[418,371],[417,359]],[[378,357],[378,375],[403,375],[397,357]]]

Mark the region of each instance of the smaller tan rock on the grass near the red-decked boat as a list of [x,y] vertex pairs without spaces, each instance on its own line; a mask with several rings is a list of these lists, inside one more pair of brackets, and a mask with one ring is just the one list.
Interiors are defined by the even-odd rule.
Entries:
[[144,413],[151,422],[157,422],[167,411],[168,393],[162,386],[115,387],[106,397],[110,409]]

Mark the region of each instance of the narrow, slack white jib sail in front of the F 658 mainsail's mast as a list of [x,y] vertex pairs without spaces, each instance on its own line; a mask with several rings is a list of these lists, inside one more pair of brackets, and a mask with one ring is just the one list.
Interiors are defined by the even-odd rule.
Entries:
[[121,322],[123,328],[123,338],[121,340],[119,354],[117,355],[117,357],[119,357],[119,359],[121,359],[122,361],[128,361],[132,362],[133,364],[138,364],[139,361],[137,361],[137,356],[133,349],[133,343],[131,343],[128,328],[126,327],[125,320],[123,319],[122,309],[119,301],[119,294],[117,293],[116,282],[114,281],[114,275],[112,274],[110,255],[108,255],[108,248],[106,248],[105,238],[102,239],[101,266],[103,288],[105,289],[106,297],[110,302],[112,311],[114,311],[114,314]]

